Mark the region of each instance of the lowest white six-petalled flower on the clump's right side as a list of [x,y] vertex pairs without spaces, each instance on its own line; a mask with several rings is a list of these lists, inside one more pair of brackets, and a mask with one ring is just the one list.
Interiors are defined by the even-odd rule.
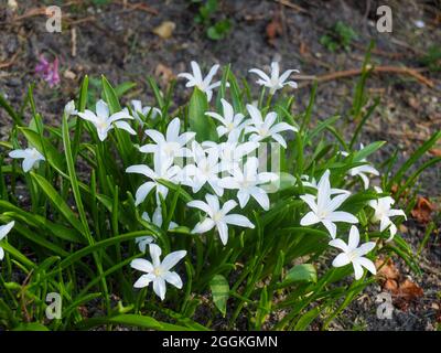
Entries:
[[373,275],[376,275],[377,270],[374,263],[370,261],[368,258],[363,257],[375,247],[375,243],[368,242],[358,246],[359,233],[355,225],[351,227],[347,245],[342,239],[333,239],[329,244],[343,252],[337,257],[335,257],[335,259],[332,261],[332,266],[342,267],[352,263],[352,266],[354,267],[355,279],[362,278],[363,267]]

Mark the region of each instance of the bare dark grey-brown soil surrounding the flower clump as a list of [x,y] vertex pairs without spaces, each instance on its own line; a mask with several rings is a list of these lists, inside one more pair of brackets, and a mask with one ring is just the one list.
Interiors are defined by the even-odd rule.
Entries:
[[[380,103],[364,128],[362,142],[388,142],[373,161],[385,161],[398,148],[399,162],[402,162],[441,127],[441,75],[422,64],[429,49],[441,43],[441,3],[437,0],[218,1],[219,11],[215,17],[228,18],[233,23],[232,32],[220,41],[209,40],[206,29],[194,22],[197,6],[191,1],[127,1],[129,4],[126,6],[125,1],[107,1],[111,3],[105,6],[92,6],[92,1],[68,1],[62,6],[62,33],[49,33],[45,17],[34,11],[45,1],[25,1],[25,4],[21,1],[15,11],[8,8],[7,2],[0,1],[0,93],[19,108],[28,84],[35,82],[36,107],[46,124],[60,122],[64,105],[75,97],[84,74],[92,77],[104,74],[114,84],[136,82],[136,89],[126,98],[152,103],[147,76],[154,76],[165,88],[170,78],[190,69],[192,60],[205,69],[215,63],[230,63],[233,71],[239,75],[245,75],[251,67],[268,69],[273,60],[280,61],[282,68],[299,68],[301,75],[298,76],[300,88],[294,92],[295,109],[302,111],[310,96],[311,79],[308,76],[359,68],[366,47],[374,40],[373,63],[417,68],[432,87],[426,81],[395,73],[375,74],[368,79],[369,101],[379,97]],[[384,3],[392,10],[391,33],[379,33],[376,29],[376,9]],[[163,21],[175,23],[169,39],[161,39],[152,32]],[[357,33],[357,39],[347,50],[331,52],[320,44],[320,40],[324,34],[333,33],[330,29],[337,21],[349,25]],[[420,28],[417,21],[422,21],[423,26]],[[34,67],[41,53],[58,57],[60,86],[50,88],[35,76]],[[356,76],[320,83],[312,124],[341,114],[342,128],[351,136],[355,122],[347,111],[355,83]],[[190,95],[181,81],[176,92],[176,104]],[[10,118],[0,110],[1,139],[9,135],[10,126]],[[437,151],[439,153],[439,147],[433,153]],[[375,314],[375,298],[380,288],[370,286],[330,329],[434,330],[439,325],[439,165],[422,174],[418,188],[419,194],[429,196],[438,205],[432,215],[437,226],[420,257],[422,276],[415,277],[405,264],[395,260],[401,274],[412,276],[412,280],[423,289],[423,297],[413,301],[406,311],[395,309],[391,320],[379,320]],[[409,220],[401,233],[417,250],[424,225]]]

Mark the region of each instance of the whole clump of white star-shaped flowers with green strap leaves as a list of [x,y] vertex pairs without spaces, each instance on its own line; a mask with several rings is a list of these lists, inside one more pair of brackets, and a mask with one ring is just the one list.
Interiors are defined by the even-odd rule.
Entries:
[[[185,107],[152,81],[157,105],[132,100],[122,107],[103,77],[104,99],[90,110],[86,77],[60,128],[45,127],[36,114],[29,127],[15,124],[12,143],[4,145],[10,158],[23,161],[21,169],[1,169],[14,185],[3,188],[0,173],[0,195],[7,195],[0,200],[0,259],[7,252],[14,259],[9,266],[37,272],[23,289],[30,298],[64,293],[72,310],[66,327],[201,329],[206,323],[194,322],[194,311],[211,290],[220,313],[230,310],[227,299],[236,308],[232,327],[247,303],[256,330],[271,310],[302,307],[275,325],[298,328],[314,300],[333,311],[354,290],[330,290],[327,284],[353,271],[357,285],[367,285],[365,269],[375,275],[373,260],[389,249],[385,240],[399,237],[406,214],[383,190],[405,170],[389,179],[367,161],[383,142],[355,151],[335,129],[337,141],[330,141],[325,124],[311,130],[310,117],[293,114],[292,97],[282,94],[297,87],[288,81],[297,71],[280,75],[278,63],[270,75],[251,69],[261,89],[252,101],[229,68],[213,83],[218,65],[206,77],[197,63],[191,66],[192,74],[179,75],[193,88]],[[17,148],[17,133],[29,148]],[[43,161],[45,168],[37,168]],[[17,181],[30,191],[30,208],[15,196]],[[10,232],[23,243],[6,244]],[[411,263],[402,244],[399,238],[397,253]],[[30,248],[32,258],[24,255]],[[331,261],[335,249],[341,254]],[[332,266],[318,271],[319,259]],[[142,275],[135,278],[133,269]],[[96,298],[108,315],[82,319],[78,306]],[[118,298],[117,307],[110,298]],[[157,313],[175,325],[153,319]]]

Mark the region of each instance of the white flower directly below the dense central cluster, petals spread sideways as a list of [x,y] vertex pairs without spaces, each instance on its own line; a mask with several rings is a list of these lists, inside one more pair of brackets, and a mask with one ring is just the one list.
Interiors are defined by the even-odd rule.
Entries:
[[200,200],[187,203],[189,207],[200,208],[207,214],[207,217],[204,221],[196,224],[192,233],[205,233],[216,227],[222,244],[226,245],[228,242],[228,224],[248,228],[255,227],[246,216],[240,214],[228,214],[228,212],[237,206],[236,201],[229,200],[220,207],[219,199],[217,199],[217,196],[206,194],[205,200],[206,203]]

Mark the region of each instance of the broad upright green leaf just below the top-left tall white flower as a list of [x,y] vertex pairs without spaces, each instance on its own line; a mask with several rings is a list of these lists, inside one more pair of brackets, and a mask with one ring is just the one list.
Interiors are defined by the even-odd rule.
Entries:
[[189,106],[190,129],[196,132],[198,142],[217,138],[216,126],[212,118],[208,118],[205,113],[208,110],[208,103],[205,93],[197,87],[194,89]]

